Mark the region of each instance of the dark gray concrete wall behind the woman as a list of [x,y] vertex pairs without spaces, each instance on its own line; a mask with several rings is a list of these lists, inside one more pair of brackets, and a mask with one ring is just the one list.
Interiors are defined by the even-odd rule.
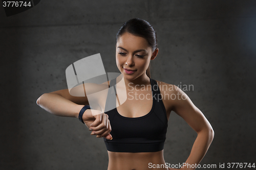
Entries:
[[[46,1],[6,17],[0,8],[1,169],[106,169],[103,139],[78,119],[36,105],[67,88],[66,68],[100,53],[117,72],[115,34],[131,18],[158,36],[153,79],[193,84],[185,91],[215,138],[201,164],[255,161],[255,1]],[[196,133],[171,113],[165,161],[187,159]]]

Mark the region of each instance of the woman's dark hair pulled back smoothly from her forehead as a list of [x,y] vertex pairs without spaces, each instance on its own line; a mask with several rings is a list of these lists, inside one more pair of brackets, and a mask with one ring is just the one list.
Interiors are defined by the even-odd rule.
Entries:
[[[151,46],[153,52],[157,48],[157,33],[149,22],[140,18],[133,18],[123,23],[122,27],[116,34],[116,43],[119,37],[124,33],[131,33],[135,36],[143,37]],[[146,69],[146,75],[150,78],[150,65]]]

